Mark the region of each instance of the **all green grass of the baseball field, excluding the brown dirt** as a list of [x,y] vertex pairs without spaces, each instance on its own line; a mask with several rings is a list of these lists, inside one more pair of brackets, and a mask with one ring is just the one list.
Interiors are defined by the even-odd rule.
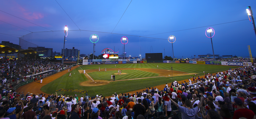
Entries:
[[[116,67],[115,67],[116,65]],[[82,65],[80,66],[82,69],[109,69],[109,68],[153,68],[157,69],[157,65],[159,65],[159,69],[167,69],[171,70],[171,67],[173,67],[173,70],[176,71],[182,71],[187,73],[198,73],[198,75],[202,76],[204,75],[203,71],[206,73],[217,73],[219,71],[225,71],[228,69],[234,69],[237,68],[237,66],[225,66],[225,65],[203,65],[203,64],[189,64],[189,63],[131,63],[131,64],[107,64],[107,65]],[[83,81],[88,81],[88,79],[85,77],[84,74],[80,74],[78,70],[81,70],[81,68],[78,67],[74,70],[72,70],[72,77],[68,78],[69,73],[63,75],[62,77],[52,81],[51,83],[46,84],[41,88],[43,92],[46,92],[48,94],[58,92],[58,94],[67,94],[67,95],[74,95],[77,94],[78,96],[85,95],[81,94],[79,92],[63,92],[63,91],[55,91],[58,89],[81,89],[81,90],[87,90],[89,96],[95,96],[96,94],[103,94],[103,96],[111,96],[114,92],[117,93],[124,93],[124,92],[130,92],[134,90],[143,89],[145,87],[152,87],[152,86],[158,86],[165,83],[171,83],[175,79],[176,81],[184,80],[190,78],[190,76],[194,75],[185,75],[185,76],[177,76],[177,77],[158,77],[158,78],[152,78],[152,79],[140,79],[140,80],[132,80],[132,81],[117,81],[117,82],[111,82],[107,85],[103,86],[80,86],[79,83]],[[134,73],[129,73],[129,71],[133,70],[127,70],[128,75],[123,75],[125,79],[134,79],[134,78],[142,78],[144,76],[147,77],[147,75],[134,75]],[[138,72],[138,70],[136,70]],[[75,73],[75,74],[74,74]],[[89,73],[95,80],[104,80],[105,78],[109,81],[110,75],[112,71],[107,71],[107,75],[104,75],[104,71],[101,71],[102,74],[99,74],[99,72]],[[116,71],[114,71],[116,73]],[[122,71],[124,73],[124,71]],[[142,74],[146,74],[145,71],[140,72]],[[138,74],[140,74],[138,73]],[[151,73],[152,74],[152,73]],[[100,75],[100,76],[99,76]],[[158,75],[153,73],[152,75]],[[122,77],[122,75],[120,76]],[[120,77],[117,77],[116,80],[118,80]],[[132,77],[132,78],[129,78]],[[153,76],[149,76],[153,77]],[[89,79],[91,80],[91,79]],[[163,90],[163,89],[160,89]]]

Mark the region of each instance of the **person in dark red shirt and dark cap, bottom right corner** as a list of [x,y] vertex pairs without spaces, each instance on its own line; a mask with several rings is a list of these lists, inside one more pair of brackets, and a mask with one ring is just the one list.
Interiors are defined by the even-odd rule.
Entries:
[[240,98],[234,99],[235,103],[238,106],[238,109],[234,111],[233,119],[239,119],[240,117],[245,117],[246,119],[253,119],[254,112],[250,109],[246,109],[242,103],[242,100]]

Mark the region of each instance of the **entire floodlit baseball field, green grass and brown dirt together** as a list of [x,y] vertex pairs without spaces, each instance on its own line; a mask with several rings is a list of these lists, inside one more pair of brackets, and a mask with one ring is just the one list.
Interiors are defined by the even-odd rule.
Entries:
[[[158,65],[158,68],[157,68]],[[100,67],[100,71],[99,71]],[[173,70],[171,70],[173,67]],[[105,71],[107,68],[107,71]],[[182,81],[190,76],[204,76],[205,73],[217,73],[237,66],[205,65],[190,63],[129,63],[129,64],[106,64],[106,65],[80,65],[54,74],[43,80],[43,84],[33,82],[20,87],[17,91],[30,89],[31,92],[39,90],[46,94],[57,92],[58,94],[90,96],[103,94],[111,96],[114,92],[126,93],[145,87],[155,87],[174,80]],[[118,69],[122,71],[118,74]],[[86,73],[83,73],[85,70]],[[68,77],[72,73],[72,77]],[[111,75],[115,75],[115,81]],[[163,90],[163,89],[159,89]],[[36,92],[34,92],[36,93]],[[40,92],[38,92],[40,93]]]

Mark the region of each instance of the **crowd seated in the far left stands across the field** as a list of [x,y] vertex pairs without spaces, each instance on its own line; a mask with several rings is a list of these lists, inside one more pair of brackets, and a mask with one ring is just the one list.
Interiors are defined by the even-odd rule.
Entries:
[[[0,60],[0,79],[2,79],[2,83],[10,83],[11,86],[14,86],[30,79],[45,78],[52,74],[52,72],[47,72],[50,69],[59,71],[69,67],[69,65],[54,63],[44,59]],[[36,75],[38,73],[42,74]]]

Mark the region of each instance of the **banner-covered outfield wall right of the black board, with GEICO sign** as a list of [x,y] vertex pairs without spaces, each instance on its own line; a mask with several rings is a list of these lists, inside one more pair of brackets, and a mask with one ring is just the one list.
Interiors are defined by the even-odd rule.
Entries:
[[252,66],[251,62],[231,62],[231,61],[171,61],[164,60],[163,63],[194,63],[194,64],[211,64],[211,65],[231,65],[231,66]]

